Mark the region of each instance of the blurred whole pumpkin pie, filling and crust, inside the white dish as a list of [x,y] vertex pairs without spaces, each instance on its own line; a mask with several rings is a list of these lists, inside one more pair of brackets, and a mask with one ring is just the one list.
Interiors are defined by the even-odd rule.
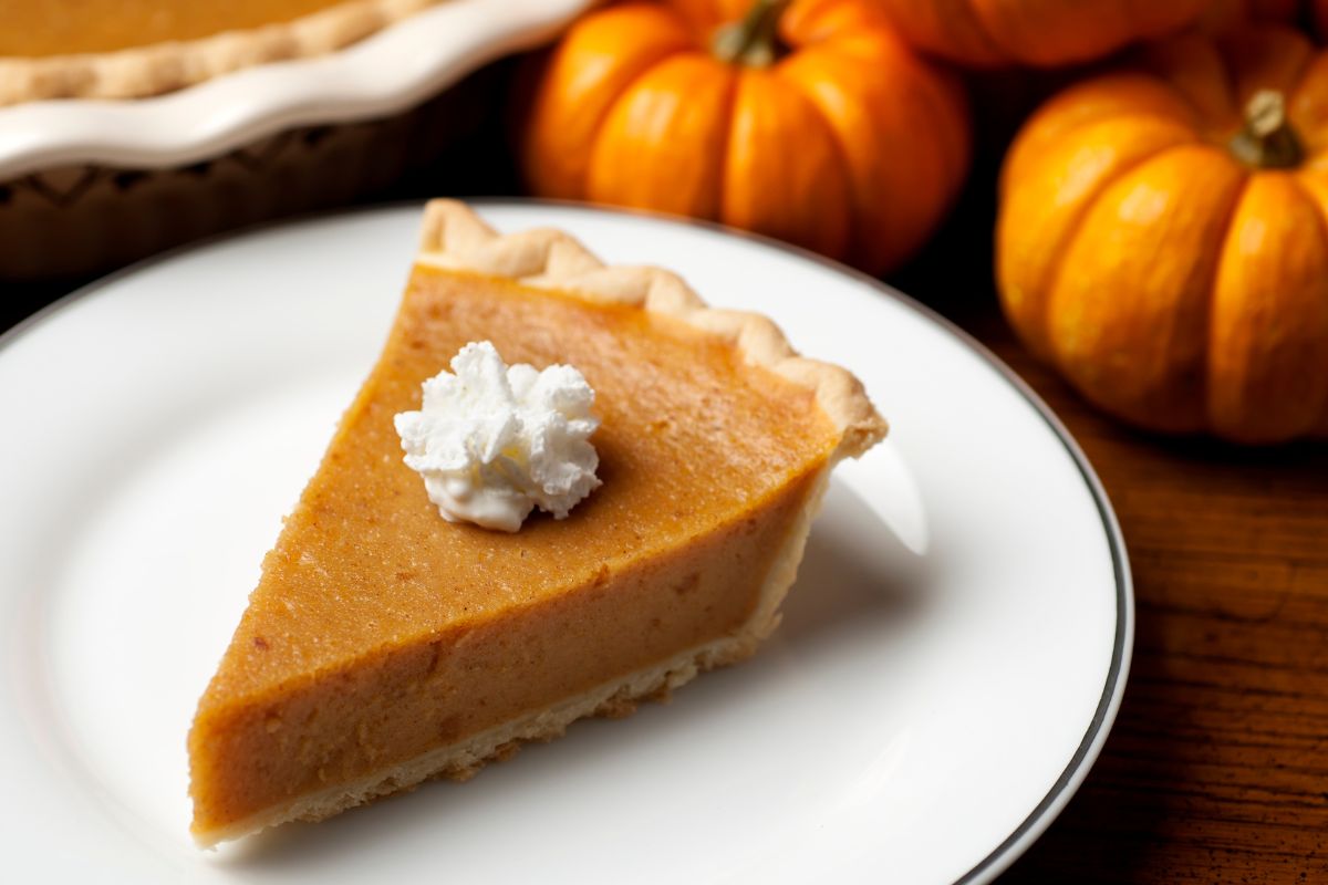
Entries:
[[141,98],[317,56],[440,0],[0,0],[0,106]]

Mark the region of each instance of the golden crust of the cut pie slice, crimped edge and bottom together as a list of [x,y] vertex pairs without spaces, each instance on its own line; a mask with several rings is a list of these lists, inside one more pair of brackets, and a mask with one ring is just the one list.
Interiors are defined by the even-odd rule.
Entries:
[[[884,421],[853,374],[839,366],[797,356],[769,318],[706,308],[681,279],[667,271],[604,265],[560,231],[534,230],[498,235],[465,204],[434,200],[425,211],[417,263],[505,277],[526,287],[555,289],[563,296],[659,312],[683,320],[714,338],[728,341],[741,358],[811,391],[838,430],[838,444],[810,475],[810,491],[768,560],[766,576],[758,586],[750,616],[737,629],[574,697],[527,710],[458,742],[378,768],[355,782],[305,792],[227,825],[199,828],[195,824],[194,836],[202,845],[236,839],[291,820],[321,820],[378,796],[410,789],[430,778],[463,780],[485,763],[507,758],[522,742],[556,738],[571,722],[583,716],[627,715],[636,709],[639,701],[667,697],[672,689],[689,682],[704,670],[749,657],[780,624],[780,605],[794,581],[811,520],[819,510],[835,463],[846,456],[861,455],[886,434]],[[194,736],[191,742],[193,739]]]

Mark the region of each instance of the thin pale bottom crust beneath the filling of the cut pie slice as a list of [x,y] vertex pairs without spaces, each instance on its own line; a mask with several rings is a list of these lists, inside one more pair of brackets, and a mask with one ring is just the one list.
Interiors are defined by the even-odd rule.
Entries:
[[811,529],[811,520],[821,510],[835,460],[831,459],[821,468],[811,484],[806,506],[789,529],[788,541],[772,563],[752,617],[734,633],[681,651],[661,663],[636,670],[620,679],[602,683],[590,691],[566,698],[542,710],[510,719],[463,740],[385,767],[365,778],[305,793],[227,827],[194,832],[194,840],[201,847],[207,848],[295,820],[324,820],[374,799],[414,789],[421,783],[434,778],[469,780],[485,764],[511,758],[525,742],[552,740],[560,736],[572,722],[586,716],[622,718],[631,715],[636,711],[640,701],[667,699],[673,689],[687,685],[699,674],[752,657],[761,641],[780,625],[780,605],[797,577],[798,564],[802,561],[807,535]]

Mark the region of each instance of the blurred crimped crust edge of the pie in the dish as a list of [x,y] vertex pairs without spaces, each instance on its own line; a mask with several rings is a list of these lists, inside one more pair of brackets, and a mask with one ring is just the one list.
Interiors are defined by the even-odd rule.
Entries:
[[242,68],[325,54],[438,1],[349,0],[293,21],[199,40],[105,53],[0,57],[0,107],[45,98],[159,96]]

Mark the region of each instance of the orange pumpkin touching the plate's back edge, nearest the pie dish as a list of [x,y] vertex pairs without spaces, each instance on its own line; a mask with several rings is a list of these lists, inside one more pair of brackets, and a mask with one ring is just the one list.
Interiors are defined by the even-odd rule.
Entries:
[[521,147],[535,194],[717,220],[874,273],[936,227],[968,155],[960,88],[867,0],[594,12],[547,60]]

